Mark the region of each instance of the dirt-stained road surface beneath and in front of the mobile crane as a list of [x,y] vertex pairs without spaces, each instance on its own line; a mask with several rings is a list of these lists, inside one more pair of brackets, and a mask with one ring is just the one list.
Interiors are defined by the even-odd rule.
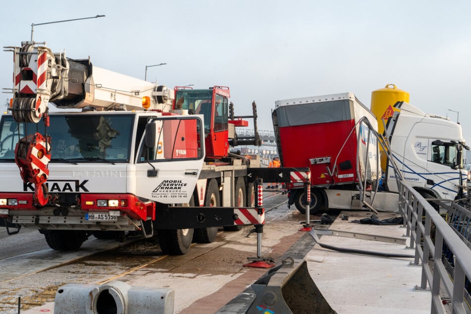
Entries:
[[[264,195],[262,256],[277,261],[304,234],[298,229],[305,216],[287,208],[285,195]],[[174,289],[175,313],[214,313],[266,271],[244,267],[248,258],[257,257],[257,236],[249,235],[252,229],[221,231],[215,242],[195,243],[183,256],[163,255],[152,240],[123,247],[113,240],[92,237],[78,252],[64,253],[49,249],[36,230],[21,230],[9,237],[2,234],[0,313],[17,313],[19,296],[22,314],[52,313],[58,287],[110,280]]]

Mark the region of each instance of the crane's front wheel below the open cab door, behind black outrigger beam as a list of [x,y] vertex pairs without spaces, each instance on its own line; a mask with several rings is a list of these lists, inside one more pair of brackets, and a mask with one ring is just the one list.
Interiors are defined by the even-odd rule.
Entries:
[[[192,196],[189,207],[195,206]],[[157,230],[158,244],[164,254],[183,255],[190,249],[193,240],[193,229],[160,229]]]

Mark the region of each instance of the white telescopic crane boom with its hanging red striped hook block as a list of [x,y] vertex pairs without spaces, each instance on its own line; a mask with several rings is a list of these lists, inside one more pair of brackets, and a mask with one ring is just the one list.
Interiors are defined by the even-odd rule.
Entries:
[[10,110],[16,122],[38,123],[45,134],[36,132],[20,138],[15,162],[25,184],[35,186],[35,202],[48,202],[46,181],[51,160],[51,137],[47,134],[49,103],[64,109],[169,111],[174,91],[157,83],[93,66],[88,59],[69,59],[65,52],[53,53],[46,45],[22,42],[21,47],[4,47],[13,52],[13,98]]

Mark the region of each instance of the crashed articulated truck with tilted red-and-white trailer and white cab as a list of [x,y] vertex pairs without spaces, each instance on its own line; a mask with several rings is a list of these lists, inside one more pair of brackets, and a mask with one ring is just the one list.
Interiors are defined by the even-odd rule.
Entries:
[[[353,93],[275,103],[272,119],[282,166],[311,170],[311,213],[327,208],[360,209],[372,206],[373,198],[375,208],[397,210],[392,162],[423,197],[461,198],[467,177],[463,150],[469,150],[461,126],[405,102],[394,107],[401,111],[390,115],[385,133],[393,160],[387,160],[380,184],[379,141],[373,135],[378,123]],[[304,213],[303,185],[287,187],[288,205],[294,204]]]

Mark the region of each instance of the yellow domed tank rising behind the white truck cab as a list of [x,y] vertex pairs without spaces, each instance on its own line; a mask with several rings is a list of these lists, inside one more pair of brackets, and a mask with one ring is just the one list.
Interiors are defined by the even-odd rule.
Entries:
[[[395,84],[388,84],[384,88],[371,92],[371,106],[370,109],[376,116],[378,120],[378,133],[383,134],[384,123],[388,121],[388,118],[392,117],[394,111],[400,111],[399,109],[394,108],[394,104],[397,102],[406,102],[409,103],[409,93],[403,90],[400,90],[396,87]],[[383,153],[383,149],[380,146],[380,158],[381,158],[381,170],[386,171],[387,167],[387,158],[386,154]]]

